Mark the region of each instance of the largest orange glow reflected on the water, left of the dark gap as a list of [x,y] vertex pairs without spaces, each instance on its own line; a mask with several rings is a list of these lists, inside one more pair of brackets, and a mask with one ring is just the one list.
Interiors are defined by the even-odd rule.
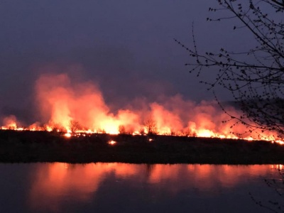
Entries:
[[30,194],[31,206],[56,210],[62,202],[61,198],[71,194],[72,199],[87,202],[107,175],[114,173],[116,177],[128,177],[138,172],[138,165],[119,163],[48,164],[47,167],[39,167],[35,174]]

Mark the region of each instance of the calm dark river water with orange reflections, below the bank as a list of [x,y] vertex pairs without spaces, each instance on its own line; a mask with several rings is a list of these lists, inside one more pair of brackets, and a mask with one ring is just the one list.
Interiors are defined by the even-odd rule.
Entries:
[[0,164],[0,212],[268,212],[278,166]]

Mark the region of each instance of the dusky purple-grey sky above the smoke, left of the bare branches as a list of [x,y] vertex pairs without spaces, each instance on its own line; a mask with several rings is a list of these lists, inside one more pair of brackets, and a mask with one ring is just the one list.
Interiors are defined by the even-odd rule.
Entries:
[[207,22],[209,6],[217,1],[3,0],[0,110],[31,109],[35,80],[43,72],[96,82],[107,102],[178,93],[197,102],[212,99],[187,72],[187,52],[173,38],[192,46],[194,21],[202,51],[248,40],[233,34],[229,23]]

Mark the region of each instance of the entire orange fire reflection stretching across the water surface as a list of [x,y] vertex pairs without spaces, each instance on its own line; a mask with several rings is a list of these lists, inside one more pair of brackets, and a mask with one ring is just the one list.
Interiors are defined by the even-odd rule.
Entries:
[[[282,165],[280,165],[282,167]],[[89,202],[107,181],[130,185],[165,185],[170,195],[195,188],[199,193],[218,193],[220,187],[246,183],[246,177],[265,176],[275,165],[137,165],[126,163],[90,163],[86,165],[38,164],[29,192],[32,209],[58,211],[67,196],[76,202]],[[279,165],[278,165],[279,167]],[[154,192],[155,193],[155,192]]]

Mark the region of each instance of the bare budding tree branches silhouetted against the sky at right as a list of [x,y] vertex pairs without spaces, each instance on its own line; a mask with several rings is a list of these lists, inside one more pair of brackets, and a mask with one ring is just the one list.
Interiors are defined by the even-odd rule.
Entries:
[[[207,21],[239,21],[234,30],[244,28],[253,35],[254,48],[240,53],[220,48],[217,53],[200,52],[192,26],[192,48],[175,40],[190,54],[190,72],[197,73],[217,67],[212,82],[207,84],[214,92],[217,85],[228,89],[244,112],[240,116],[231,115],[236,123],[246,124],[249,131],[277,132],[284,134],[284,23],[283,0],[217,0],[219,7],[209,8],[211,12],[229,11],[229,16],[207,18]],[[235,23],[235,22],[234,22]],[[249,34],[248,34],[249,35]],[[234,40],[232,40],[234,42]],[[216,93],[214,92],[215,97]],[[216,98],[217,99],[217,98]],[[218,101],[218,99],[217,99]],[[220,104],[220,103],[219,103]],[[222,107],[222,105],[220,104]],[[223,107],[222,109],[226,111]]]

